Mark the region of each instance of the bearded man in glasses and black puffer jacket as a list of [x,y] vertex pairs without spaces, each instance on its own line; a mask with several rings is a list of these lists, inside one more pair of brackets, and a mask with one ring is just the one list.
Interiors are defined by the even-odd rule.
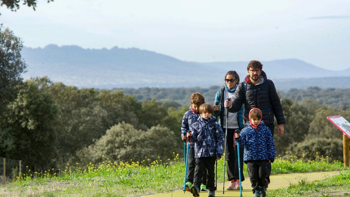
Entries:
[[[274,116],[277,120],[277,133],[281,137],[284,132],[283,124],[286,123],[280,98],[277,94],[274,83],[267,79],[266,73],[262,71],[262,64],[257,60],[252,60],[247,66],[248,75],[241,82],[225,107],[229,107],[229,112],[236,113],[244,104],[243,121],[244,125],[249,124],[248,113],[253,108],[259,108],[262,112],[262,121],[271,130],[272,136],[275,125]],[[270,183],[271,163],[267,165],[267,183]]]

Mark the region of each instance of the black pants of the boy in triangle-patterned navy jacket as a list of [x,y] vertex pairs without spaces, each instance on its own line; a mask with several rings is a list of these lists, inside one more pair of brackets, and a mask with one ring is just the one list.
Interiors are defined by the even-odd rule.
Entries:
[[200,188],[204,169],[207,169],[207,189],[215,191],[215,159],[216,157],[201,157],[196,158],[196,170],[194,177],[194,185]]

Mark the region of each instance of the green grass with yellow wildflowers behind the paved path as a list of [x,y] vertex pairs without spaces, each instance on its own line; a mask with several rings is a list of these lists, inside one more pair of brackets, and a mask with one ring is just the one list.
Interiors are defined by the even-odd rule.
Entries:
[[[327,162],[317,156],[314,161],[290,156],[276,158],[272,174],[314,172],[343,169],[341,162]],[[105,158],[103,164],[87,165],[86,169],[64,169],[40,172],[27,171],[23,177],[2,185],[2,196],[143,196],[154,193],[180,190],[184,181],[184,163],[174,154],[172,159],[158,158],[142,162],[114,162]],[[218,182],[223,181],[223,159],[218,161]],[[246,177],[246,165],[244,165]]]

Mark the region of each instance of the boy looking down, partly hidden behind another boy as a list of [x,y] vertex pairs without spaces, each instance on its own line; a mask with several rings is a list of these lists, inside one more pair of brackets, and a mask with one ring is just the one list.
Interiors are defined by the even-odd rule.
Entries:
[[[199,107],[204,103],[204,96],[199,93],[193,93],[190,97],[190,110],[186,111],[182,118],[181,124],[181,138],[186,140],[186,136],[183,135],[190,130],[190,125],[197,122],[199,114]],[[195,174],[196,159],[195,159],[195,143],[190,139],[190,148],[188,149],[188,164],[187,164],[187,175],[186,175],[186,191],[190,191],[190,188],[193,184],[193,178]],[[207,170],[204,169],[203,179],[201,184],[201,191],[207,191]]]

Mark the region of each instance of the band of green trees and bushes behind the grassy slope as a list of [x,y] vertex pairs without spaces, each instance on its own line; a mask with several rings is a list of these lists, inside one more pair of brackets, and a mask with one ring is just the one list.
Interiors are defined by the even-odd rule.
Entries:
[[[277,155],[314,159],[318,152],[342,161],[342,133],[326,117],[341,114],[350,120],[349,106],[283,97],[281,102],[287,123],[285,135],[274,137]],[[115,161],[167,159],[183,152],[180,127],[188,107],[189,101],[181,107],[137,100],[120,90],[78,89],[35,78],[19,83],[4,109],[0,153],[36,169],[100,163],[102,155]]]

